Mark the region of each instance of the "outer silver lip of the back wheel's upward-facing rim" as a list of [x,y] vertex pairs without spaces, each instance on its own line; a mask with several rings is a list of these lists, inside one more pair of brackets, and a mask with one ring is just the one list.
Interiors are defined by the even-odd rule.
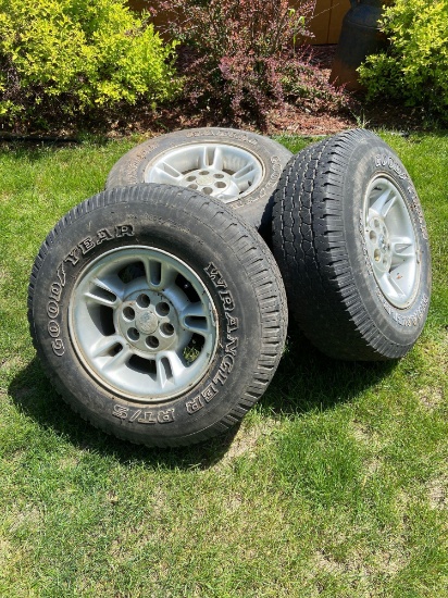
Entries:
[[[253,151],[251,151],[251,149],[241,147],[241,145],[238,145],[235,141],[233,142],[232,140],[228,140],[227,142],[223,142],[223,141],[216,141],[216,140],[200,140],[200,139],[189,140],[186,144],[182,144],[182,145],[173,147],[173,148],[167,148],[164,151],[162,151],[161,153],[158,153],[154,158],[152,158],[150,160],[150,162],[145,167],[145,171],[144,171],[144,180],[145,180],[145,183],[155,183],[155,184],[165,183],[164,180],[159,180],[157,177],[152,176],[152,174],[151,174],[152,171],[160,163],[162,163],[163,161],[166,161],[167,158],[175,158],[175,155],[182,154],[182,153],[184,153],[185,151],[188,151],[188,150],[190,150],[191,152],[197,152],[197,150],[200,149],[201,147],[224,148],[226,150],[235,148],[239,154],[250,157],[252,163],[257,166],[257,170],[258,170],[258,174],[257,174],[257,177],[256,177],[256,183],[250,185],[249,188],[246,191],[244,191],[241,194],[238,194],[237,196],[234,196],[234,197],[228,198],[228,199],[223,199],[223,198],[217,197],[220,195],[220,192],[211,194],[212,197],[215,197],[220,201],[223,201],[224,203],[229,204],[229,203],[234,203],[235,201],[238,201],[238,200],[245,198],[249,194],[252,194],[253,191],[256,191],[260,186],[262,186],[263,179],[265,178],[265,173],[266,173],[265,166],[264,166],[263,161],[260,160],[260,158]],[[199,170],[199,169],[195,167],[195,169],[191,169],[191,170]],[[189,172],[189,171],[187,171],[187,172]],[[187,172],[184,172],[183,174],[186,175]],[[172,183],[172,184],[176,185],[176,183]],[[185,186],[185,187],[188,188],[188,185],[178,185],[178,186]]]

